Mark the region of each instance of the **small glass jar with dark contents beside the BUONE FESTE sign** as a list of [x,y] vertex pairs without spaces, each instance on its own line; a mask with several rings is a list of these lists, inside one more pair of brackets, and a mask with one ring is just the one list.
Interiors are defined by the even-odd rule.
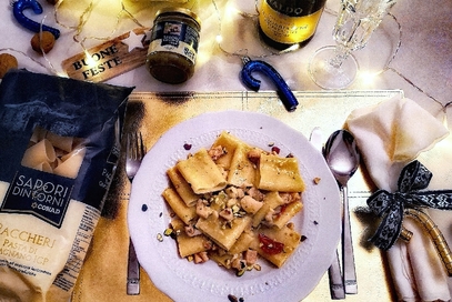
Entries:
[[178,84],[194,73],[201,21],[192,11],[167,8],[157,12],[147,67],[155,79]]

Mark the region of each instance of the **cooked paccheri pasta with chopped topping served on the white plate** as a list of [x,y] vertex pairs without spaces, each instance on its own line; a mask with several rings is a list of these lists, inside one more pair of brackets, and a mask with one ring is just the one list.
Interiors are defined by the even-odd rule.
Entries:
[[297,159],[223,131],[209,150],[180,160],[167,174],[162,195],[175,214],[170,230],[181,258],[213,260],[241,275],[260,268],[258,254],[281,268],[300,244],[290,222],[303,208]]

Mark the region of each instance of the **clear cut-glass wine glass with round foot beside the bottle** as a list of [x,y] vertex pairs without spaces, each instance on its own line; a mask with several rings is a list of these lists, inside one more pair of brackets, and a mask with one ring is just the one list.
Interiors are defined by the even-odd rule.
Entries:
[[352,51],[362,49],[396,0],[341,0],[333,29],[335,46],[315,51],[309,63],[311,79],[323,89],[343,89],[356,77]]

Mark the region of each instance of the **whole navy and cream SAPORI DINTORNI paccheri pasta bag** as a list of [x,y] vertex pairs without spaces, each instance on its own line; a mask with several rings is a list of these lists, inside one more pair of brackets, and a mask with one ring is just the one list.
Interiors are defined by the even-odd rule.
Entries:
[[70,300],[119,159],[131,91],[19,70],[3,78],[0,301]]

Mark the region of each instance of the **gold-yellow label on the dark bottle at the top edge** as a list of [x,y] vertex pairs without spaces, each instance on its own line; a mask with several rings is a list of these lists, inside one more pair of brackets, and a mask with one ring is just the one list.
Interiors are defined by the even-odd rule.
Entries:
[[259,13],[259,24],[262,31],[273,41],[284,44],[295,44],[314,34],[323,8],[302,16],[290,17],[272,9],[265,1]]

